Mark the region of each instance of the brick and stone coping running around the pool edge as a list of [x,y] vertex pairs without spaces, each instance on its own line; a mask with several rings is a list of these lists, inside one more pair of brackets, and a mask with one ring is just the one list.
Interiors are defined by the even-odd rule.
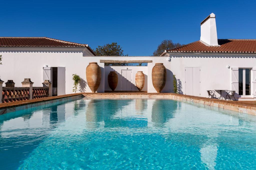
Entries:
[[0,115],[8,112],[20,110],[20,109],[36,107],[44,104],[57,102],[57,101],[75,99],[77,97],[85,97],[90,99],[91,98],[94,98],[94,99],[98,99],[98,98],[173,99],[173,100],[179,100],[179,101],[190,101],[195,103],[201,103],[208,106],[256,115],[256,101],[227,101],[227,100],[209,99],[205,97],[188,96],[188,95],[174,94],[174,93],[145,93],[145,92],[142,92],[142,93],[140,92],[137,92],[137,93],[130,93],[130,92],[129,93],[76,93],[76,94],[39,98],[39,99],[33,99],[33,100],[0,103]]

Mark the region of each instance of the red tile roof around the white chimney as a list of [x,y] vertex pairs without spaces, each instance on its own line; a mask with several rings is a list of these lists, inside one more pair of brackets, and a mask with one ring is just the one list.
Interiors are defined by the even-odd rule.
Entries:
[[218,39],[218,44],[219,46],[207,46],[200,41],[196,41],[166,51],[183,53],[256,53],[256,40]]

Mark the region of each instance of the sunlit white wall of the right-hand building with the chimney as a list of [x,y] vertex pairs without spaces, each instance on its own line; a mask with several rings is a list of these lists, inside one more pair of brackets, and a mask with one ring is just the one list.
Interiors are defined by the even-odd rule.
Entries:
[[[231,68],[255,68],[256,55],[248,54],[172,54],[170,56],[170,70],[180,79],[182,91],[185,94],[185,67],[200,67],[200,93],[202,97],[208,97],[207,90],[223,89],[231,90]],[[230,66],[230,68],[227,68]],[[251,72],[251,89],[252,86]],[[251,97],[252,96],[251,90]],[[222,96],[225,92],[222,92]],[[220,96],[217,92],[217,97]],[[225,95],[226,97],[226,95]],[[239,97],[239,96],[237,96]]]

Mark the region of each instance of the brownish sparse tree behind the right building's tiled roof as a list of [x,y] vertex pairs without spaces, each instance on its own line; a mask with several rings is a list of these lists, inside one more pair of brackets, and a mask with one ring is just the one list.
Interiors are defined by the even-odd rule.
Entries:
[[160,56],[164,50],[170,50],[182,46],[180,43],[173,43],[172,40],[163,40],[154,51],[153,56]]

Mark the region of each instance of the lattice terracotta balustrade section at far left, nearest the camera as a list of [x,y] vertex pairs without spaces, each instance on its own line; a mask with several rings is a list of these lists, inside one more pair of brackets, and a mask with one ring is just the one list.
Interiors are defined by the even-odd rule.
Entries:
[[3,87],[3,103],[28,100],[29,87]]

